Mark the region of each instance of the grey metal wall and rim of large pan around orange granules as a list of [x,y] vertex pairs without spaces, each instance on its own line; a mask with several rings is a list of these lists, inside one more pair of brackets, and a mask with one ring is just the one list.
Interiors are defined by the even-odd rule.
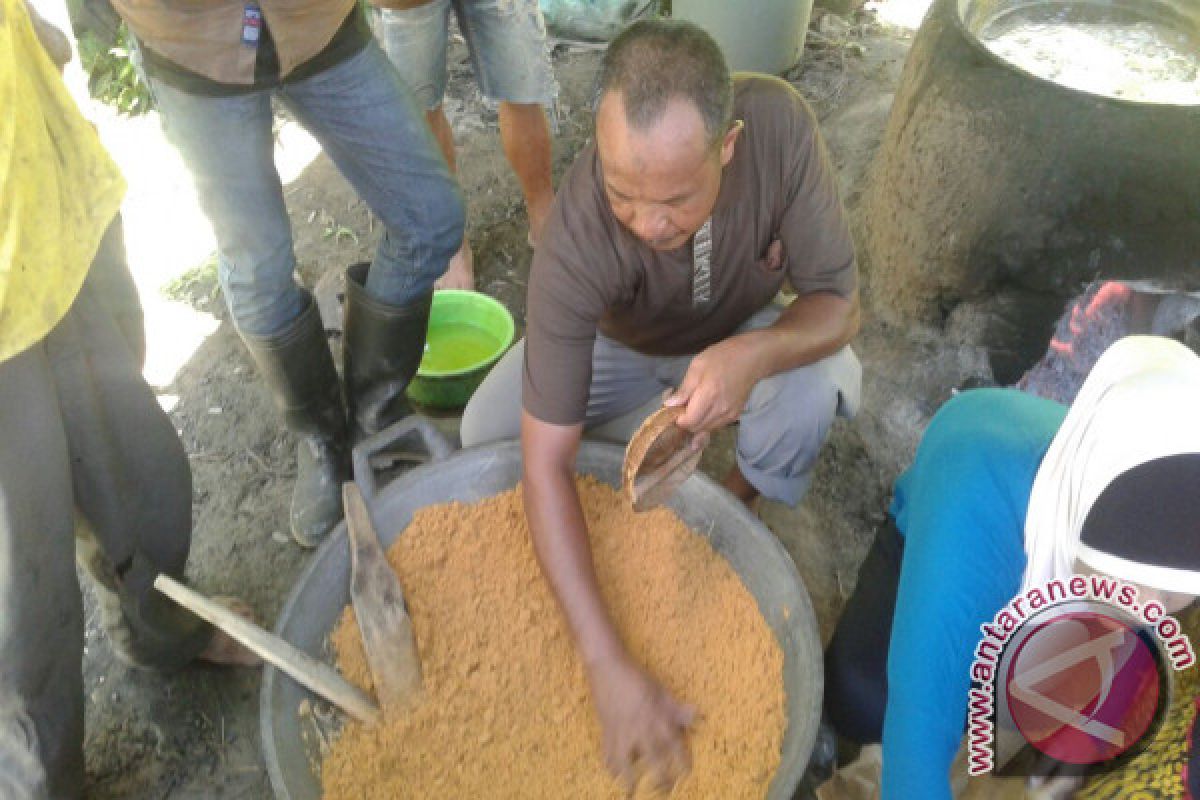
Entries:
[[[618,446],[588,441],[580,450],[577,468],[616,487],[620,485],[623,455]],[[380,539],[388,546],[418,509],[434,503],[480,500],[512,488],[520,477],[520,445],[490,445],[416,468],[367,501]],[[808,765],[821,715],[821,642],[808,593],[775,536],[708,477],[697,474],[689,479],[671,507],[728,559],[782,648],[788,726],[782,763],[768,799],[790,800]],[[280,614],[276,632],[306,652],[323,657],[329,632],[349,602],[349,576],[343,523],[300,576]],[[299,684],[271,667],[265,668],[260,710],[263,756],[281,800],[320,798],[320,783],[310,766],[316,763],[314,753],[301,740],[296,717],[296,709],[307,697],[312,696]]]

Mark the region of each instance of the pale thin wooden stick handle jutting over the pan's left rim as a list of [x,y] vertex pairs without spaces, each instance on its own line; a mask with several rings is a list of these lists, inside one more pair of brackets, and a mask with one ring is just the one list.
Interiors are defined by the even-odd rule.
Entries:
[[296,682],[317,692],[356,720],[379,721],[379,706],[371,697],[342,678],[336,669],[317,661],[293,644],[264,631],[241,614],[188,589],[170,576],[160,575],[154,587],[200,619],[217,626],[263,661],[283,670]]

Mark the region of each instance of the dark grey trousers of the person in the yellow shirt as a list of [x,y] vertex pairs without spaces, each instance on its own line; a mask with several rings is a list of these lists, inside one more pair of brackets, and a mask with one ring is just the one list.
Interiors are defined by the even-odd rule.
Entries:
[[0,772],[32,756],[52,798],[83,788],[76,515],[94,536],[89,569],[107,576],[127,655],[173,667],[211,638],[152,589],[158,572],[182,576],[192,487],[142,378],[143,336],[114,223],[67,315],[0,363]]

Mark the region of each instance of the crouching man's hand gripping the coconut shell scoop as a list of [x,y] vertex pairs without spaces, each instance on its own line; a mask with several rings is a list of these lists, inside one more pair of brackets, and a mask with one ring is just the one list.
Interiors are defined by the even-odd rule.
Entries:
[[742,414],[750,391],[763,374],[754,335],[739,335],[701,350],[683,383],[665,405],[685,405],[676,421],[694,433],[718,431]]

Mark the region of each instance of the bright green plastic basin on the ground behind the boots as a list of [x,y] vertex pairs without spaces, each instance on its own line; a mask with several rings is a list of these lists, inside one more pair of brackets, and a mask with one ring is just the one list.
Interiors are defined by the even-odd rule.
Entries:
[[408,398],[426,408],[462,408],[512,344],[515,332],[509,309],[485,294],[433,293],[425,355],[408,385]]

